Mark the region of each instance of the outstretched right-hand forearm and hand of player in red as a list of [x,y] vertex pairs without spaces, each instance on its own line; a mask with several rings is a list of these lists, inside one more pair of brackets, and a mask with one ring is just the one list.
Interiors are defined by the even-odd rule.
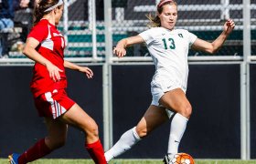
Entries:
[[80,71],[80,72],[84,73],[86,75],[86,77],[88,77],[88,78],[93,77],[93,72],[89,67],[80,67],[74,63],[67,61],[67,60],[64,60],[64,67]]

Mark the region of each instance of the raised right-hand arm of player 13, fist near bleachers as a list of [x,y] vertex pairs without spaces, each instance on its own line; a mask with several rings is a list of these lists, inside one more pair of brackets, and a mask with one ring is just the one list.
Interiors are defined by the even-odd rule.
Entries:
[[214,54],[224,44],[225,40],[228,38],[229,34],[232,32],[234,27],[235,27],[234,21],[232,19],[229,19],[224,24],[222,33],[212,43],[197,38],[191,47],[194,50],[199,50],[199,51],[204,51],[210,54]]

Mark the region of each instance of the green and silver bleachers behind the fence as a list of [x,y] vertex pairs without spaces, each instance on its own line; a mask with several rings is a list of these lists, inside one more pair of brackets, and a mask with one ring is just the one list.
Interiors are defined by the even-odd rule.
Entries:
[[[118,2],[118,1],[116,1]],[[135,1],[127,0],[122,1],[122,5],[113,4],[113,21],[112,21],[112,39],[113,46],[123,37],[134,36],[145,29],[147,20],[145,14],[155,12],[155,0]],[[223,1],[225,2],[225,1]],[[119,2],[120,3],[120,2]],[[217,56],[242,56],[243,42],[242,42],[242,7],[239,0],[229,1],[229,4],[220,4],[218,1],[197,1],[197,2],[178,2],[178,22],[177,28],[185,28],[190,32],[197,35],[199,38],[212,41],[219,36],[223,26],[223,19],[232,17],[237,27],[229,36],[228,41],[216,54]],[[192,3],[192,4],[191,4]],[[67,32],[68,47],[65,51],[66,57],[91,57],[92,56],[92,32],[89,29],[88,20],[76,20],[76,15],[85,13],[87,8],[81,7],[84,5],[82,0],[74,0],[69,6],[69,13],[74,15],[69,16],[69,28]],[[225,5],[225,10],[222,11],[222,5]],[[77,7],[75,7],[77,6]],[[78,6],[80,6],[78,8]],[[204,7],[205,6],[205,7]],[[88,6],[87,6],[88,7]],[[79,10],[79,11],[78,11]],[[97,8],[99,10],[99,8]],[[252,13],[255,11],[255,6],[252,5]],[[102,11],[103,12],[103,11]],[[119,16],[119,17],[118,17]],[[252,15],[253,16],[253,15]],[[78,16],[79,19],[83,19]],[[252,17],[253,18],[253,17]],[[253,18],[252,20],[254,20]],[[63,32],[63,23],[60,24],[59,30]],[[105,56],[105,36],[104,36],[104,23],[97,20],[97,56]],[[254,47],[256,30],[251,30],[251,52],[256,54]],[[128,56],[148,56],[147,50],[144,45],[138,47],[131,47],[128,50]],[[208,54],[189,51],[189,56],[208,56]],[[25,57],[19,52],[10,52],[10,58]]]

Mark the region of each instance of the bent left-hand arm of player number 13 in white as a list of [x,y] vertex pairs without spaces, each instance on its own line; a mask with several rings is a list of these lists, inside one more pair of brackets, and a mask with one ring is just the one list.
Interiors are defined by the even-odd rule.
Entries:
[[127,46],[132,46],[134,44],[140,44],[140,43],[144,43],[144,39],[141,36],[131,36],[131,37],[123,38],[113,48],[113,54],[115,54],[118,57],[123,57],[126,55],[125,48]]

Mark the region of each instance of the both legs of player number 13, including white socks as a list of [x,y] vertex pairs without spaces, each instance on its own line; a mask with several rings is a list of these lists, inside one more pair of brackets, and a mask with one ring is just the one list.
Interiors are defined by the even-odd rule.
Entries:
[[169,119],[165,108],[171,108],[177,113],[171,123],[167,151],[169,154],[175,154],[177,152],[180,139],[187,127],[187,118],[190,117],[192,108],[185,93],[180,88],[166,92],[165,95],[160,98],[159,103],[163,105],[164,108],[151,105],[146,110],[144,117],[138,122],[137,126],[123,133],[122,137],[112,149],[105,153],[107,161],[131,149],[141,138],[145,138],[155,128],[165,123],[165,121]]

